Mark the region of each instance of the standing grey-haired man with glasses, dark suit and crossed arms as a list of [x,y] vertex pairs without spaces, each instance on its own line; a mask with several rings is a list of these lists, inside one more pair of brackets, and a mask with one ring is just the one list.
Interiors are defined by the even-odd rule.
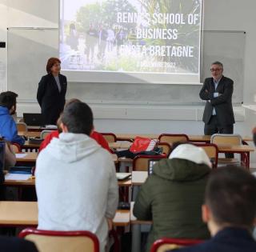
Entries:
[[[232,94],[234,82],[226,78],[221,62],[210,66],[211,78],[206,78],[200,91],[200,98],[206,100],[202,121],[205,122],[204,134],[233,134],[234,112]],[[228,158],[234,157],[229,154]],[[226,156],[227,157],[227,156]]]

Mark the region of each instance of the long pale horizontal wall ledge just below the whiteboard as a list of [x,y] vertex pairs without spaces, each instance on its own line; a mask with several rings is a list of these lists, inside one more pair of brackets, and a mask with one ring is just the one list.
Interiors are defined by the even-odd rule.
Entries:
[[[118,106],[89,104],[95,119],[202,121],[204,106]],[[18,103],[17,114],[40,113],[37,103]],[[245,109],[234,106],[236,122],[245,121]]]

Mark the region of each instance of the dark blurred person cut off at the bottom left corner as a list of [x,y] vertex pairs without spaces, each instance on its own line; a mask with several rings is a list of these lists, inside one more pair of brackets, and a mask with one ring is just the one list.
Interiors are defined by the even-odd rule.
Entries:
[[1,252],[38,252],[33,242],[22,238],[0,236]]

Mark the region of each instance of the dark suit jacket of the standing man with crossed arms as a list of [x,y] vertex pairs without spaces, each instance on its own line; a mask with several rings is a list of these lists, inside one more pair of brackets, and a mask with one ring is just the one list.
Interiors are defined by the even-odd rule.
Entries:
[[[200,91],[200,98],[206,100],[206,106],[203,113],[202,121],[209,124],[210,117],[215,108],[216,116],[220,126],[229,126],[234,124],[234,112],[232,107],[232,94],[234,82],[230,78],[222,76],[215,90],[214,78],[206,78]],[[214,98],[214,93],[219,94]]]

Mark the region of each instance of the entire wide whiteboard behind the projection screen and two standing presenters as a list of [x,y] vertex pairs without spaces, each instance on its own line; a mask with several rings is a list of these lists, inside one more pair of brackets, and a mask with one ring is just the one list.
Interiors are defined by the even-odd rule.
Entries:
[[[210,63],[224,64],[224,75],[234,80],[233,102],[241,103],[244,85],[246,34],[241,31],[205,31],[202,47],[202,82],[210,77]],[[58,57],[58,29],[9,28],[8,90],[19,102],[36,102],[38,82],[46,62]],[[114,104],[200,105],[202,85],[68,82],[67,98]]]

